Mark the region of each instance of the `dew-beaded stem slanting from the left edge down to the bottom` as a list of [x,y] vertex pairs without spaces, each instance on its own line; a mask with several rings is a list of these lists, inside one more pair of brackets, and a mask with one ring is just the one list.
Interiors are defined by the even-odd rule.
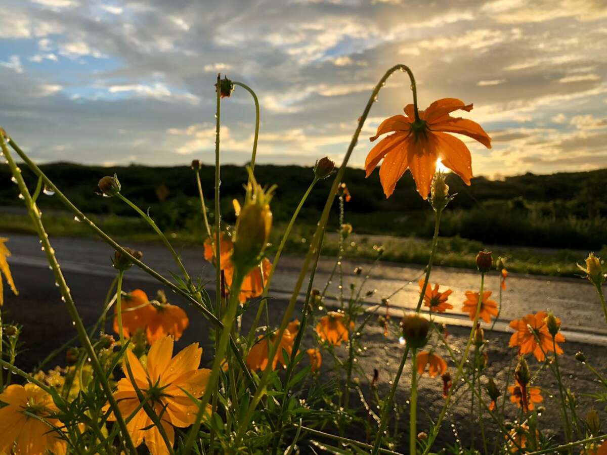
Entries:
[[[10,141],[10,139],[9,139]],[[12,141],[10,141],[12,142]],[[133,445],[133,441],[131,439],[131,435],[126,428],[126,423],[124,423],[124,419],[122,414],[120,414],[120,409],[118,408],[118,403],[114,399],[114,394],[112,394],[112,388],[110,387],[105,374],[103,372],[103,367],[97,358],[97,353],[93,348],[93,345],[90,343],[89,335],[84,328],[84,324],[80,315],[78,314],[78,310],[76,309],[76,305],[73,302],[72,294],[70,293],[70,289],[67,286],[66,280],[63,277],[63,273],[61,272],[61,268],[59,267],[59,263],[55,257],[55,251],[53,250],[50,242],[49,236],[46,234],[44,230],[44,225],[42,224],[42,220],[40,217],[40,211],[36,204],[32,201],[32,197],[30,196],[30,192],[25,185],[25,181],[21,175],[21,170],[18,168],[15,160],[13,160],[12,155],[8,152],[8,148],[4,141],[4,134],[0,133],[0,146],[2,147],[2,152],[4,153],[4,157],[8,161],[8,166],[16,178],[17,183],[19,185],[19,190],[23,195],[25,200],[25,204],[27,206],[27,211],[29,212],[30,218],[32,218],[34,227],[36,232],[38,233],[38,237],[42,243],[42,248],[44,248],[44,252],[46,254],[47,260],[49,261],[49,266],[52,269],[53,275],[55,275],[55,281],[59,285],[59,291],[61,292],[61,300],[66,304],[67,312],[72,317],[72,323],[76,328],[76,332],[78,332],[78,336],[80,337],[80,341],[86,349],[87,354],[90,357],[90,363],[95,371],[95,374],[98,376],[98,379],[101,383],[104,393],[106,394],[107,400],[109,402],[110,408],[114,411],[114,415],[116,416],[118,425],[120,426],[120,430],[123,436],[123,440],[126,442],[126,448],[131,453],[136,453],[135,446]]]

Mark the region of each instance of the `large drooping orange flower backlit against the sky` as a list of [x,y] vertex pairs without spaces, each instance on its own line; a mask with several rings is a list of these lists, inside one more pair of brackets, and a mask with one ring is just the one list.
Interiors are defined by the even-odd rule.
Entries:
[[371,149],[365,161],[365,170],[368,177],[379,161],[384,160],[379,169],[379,179],[386,197],[392,195],[396,182],[410,169],[419,194],[426,199],[438,158],[467,185],[470,184],[470,150],[461,140],[446,132],[469,136],[488,149],[491,148],[491,138],[478,123],[449,115],[458,109],[470,112],[472,104],[466,105],[456,98],[439,99],[428,109],[419,111],[417,120],[413,104],[409,104],[404,109],[405,115],[392,116],[379,125],[371,141],[385,133],[394,133]]

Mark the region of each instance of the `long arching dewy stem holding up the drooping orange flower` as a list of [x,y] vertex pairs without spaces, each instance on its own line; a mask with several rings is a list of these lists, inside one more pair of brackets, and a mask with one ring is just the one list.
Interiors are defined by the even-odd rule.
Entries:
[[[356,146],[356,143],[358,143],[358,136],[361,134],[362,126],[364,125],[365,120],[367,120],[367,116],[371,110],[371,106],[373,106],[373,103],[375,102],[375,99],[379,93],[379,90],[381,90],[382,86],[384,86],[384,83],[388,79],[388,77],[390,75],[392,75],[393,72],[395,72],[396,70],[399,70],[399,69],[407,71],[410,74],[410,77],[413,76],[409,67],[399,64],[399,65],[395,65],[392,68],[390,68],[387,72],[385,72],[384,76],[381,79],[379,79],[379,82],[375,86],[375,89],[373,89],[373,92],[371,93],[371,96],[367,102],[367,106],[365,106],[365,110],[363,111],[363,113],[359,119],[358,126],[356,127],[356,130],[354,131],[354,135],[352,136],[352,140],[350,141],[350,146],[348,146],[348,150],[345,153],[344,160],[342,161],[342,164],[339,167],[339,170],[337,170],[337,174],[333,180],[333,185],[331,186],[330,192],[327,197],[327,201],[325,202],[325,207],[322,211],[322,215],[320,215],[320,220],[319,220],[318,226],[316,227],[316,232],[314,232],[314,237],[312,238],[312,241],[310,242],[310,249],[308,249],[308,253],[306,254],[306,256],[304,258],[304,264],[302,265],[302,268],[299,272],[299,277],[297,278],[296,284],[293,288],[293,294],[291,295],[291,299],[287,305],[287,309],[285,311],[282,323],[280,324],[279,332],[276,337],[276,342],[273,343],[273,346],[272,346],[272,349],[270,352],[270,357],[268,358],[268,367],[266,367],[265,371],[263,372],[262,378],[259,383],[259,387],[257,388],[257,391],[254,394],[253,399],[251,400],[251,403],[249,404],[249,408],[246,411],[243,421],[240,422],[239,432],[236,437],[237,445],[240,442],[240,440],[242,440],[242,437],[244,436],[244,433],[246,431],[246,428],[248,427],[251,417],[253,416],[253,411],[257,407],[257,404],[259,403],[259,400],[261,399],[261,395],[262,395],[263,391],[265,390],[265,385],[268,382],[268,378],[270,376],[271,365],[274,360],[274,356],[276,355],[278,346],[280,346],[280,341],[282,340],[282,336],[285,332],[285,329],[287,329],[288,321],[290,320],[291,315],[293,314],[293,309],[297,303],[297,297],[299,296],[299,291],[302,288],[302,285],[304,283],[305,276],[308,273],[308,268],[310,267],[310,262],[314,256],[314,254],[316,253],[316,249],[318,248],[318,246],[320,244],[320,238],[322,237],[322,235],[324,235],[324,229],[325,229],[325,226],[327,226],[327,221],[328,221],[329,213],[331,211],[331,206],[333,206],[333,201],[335,200],[335,197],[337,194],[337,187],[339,186],[342,178],[344,177],[345,168],[348,164],[348,161],[350,160],[350,156],[354,150],[354,146]],[[415,79],[412,79],[412,80],[415,80]],[[415,89],[415,84],[413,84],[413,89]]]

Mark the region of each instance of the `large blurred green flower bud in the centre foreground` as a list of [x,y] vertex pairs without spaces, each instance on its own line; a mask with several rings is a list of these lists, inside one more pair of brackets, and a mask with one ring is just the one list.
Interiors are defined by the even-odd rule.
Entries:
[[[250,171],[249,171],[250,172]],[[251,174],[245,202],[236,220],[232,263],[244,275],[256,266],[270,239],[272,212],[270,200],[274,187],[265,192]]]

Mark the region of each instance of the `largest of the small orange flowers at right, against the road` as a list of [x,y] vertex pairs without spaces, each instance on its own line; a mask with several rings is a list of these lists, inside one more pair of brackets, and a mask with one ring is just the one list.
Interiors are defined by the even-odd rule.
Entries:
[[[518,351],[521,354],[533,352],[538,362],[543,362],[546,357],[544,356],[544,352],[554,351],[552,346],[552,335],[548,332],[548,326],[544,321],[547,315],[548,314],[545,311],[538,311],[535,314],[527,314],[522,319],[511,321],[510,327],[515,329],[516,332],[510,337],[510,348],[518,346]],[[560,319],[556,319],[558,325],[560,325]],[[533,332],[531,332],[527,326],[531,326]],[[537,335],[540,340],[541,347],[538,345],[534,334]],[[557,354],[563,354],[563,349],[558,346],[558,343],[565,342],[565,336],[558,332],[555,335],[555,342],[557,343]],[[543,351],[542,348],[544,349]]]

